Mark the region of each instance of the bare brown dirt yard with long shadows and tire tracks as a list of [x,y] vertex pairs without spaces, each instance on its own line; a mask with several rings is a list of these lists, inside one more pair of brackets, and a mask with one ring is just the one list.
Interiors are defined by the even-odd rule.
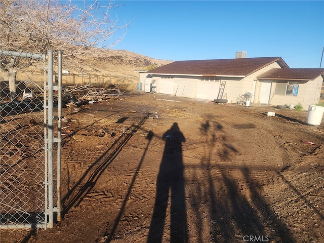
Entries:
[[63,115],[62,221],[2,243],[324,242],[324,126],[306,111],[136,91]]

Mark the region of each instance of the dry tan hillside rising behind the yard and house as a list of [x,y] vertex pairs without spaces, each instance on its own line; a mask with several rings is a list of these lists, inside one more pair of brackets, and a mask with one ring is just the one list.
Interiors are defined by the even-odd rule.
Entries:
[[[75,53],[77,52],[75,47]],[[56,55],[57,53],[54,52],[54,62],[57,62]],[[136,71],[150,70],[173,62],[126,50],[100,48],[91,48],[86,50],[86,54],[75,54],[75,56],[65,56],[63,52],[62,59],[62,69],[68,71],[68,74],[63,72],[63,85],[113,84],[126,89],[136,89],[139,81],[139,73]],[[28,63],[27,68],[17,72],[17,80],[29,79],[42,83],[44,80],[43,65],[43,62],[33,60],[32,63]],[[57,73],[56,63],[54,63],[54,72]],[[0,72],[0,80],[7,80],[3,72]]]

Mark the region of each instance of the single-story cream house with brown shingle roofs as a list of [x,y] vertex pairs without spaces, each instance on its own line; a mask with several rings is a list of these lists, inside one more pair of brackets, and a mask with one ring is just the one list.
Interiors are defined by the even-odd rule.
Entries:
[[284,105],[317,104],[324,69],[289,68],[281,57],[176,61],[140,71],[144,92],[236,103],[244,94],[251,102]]

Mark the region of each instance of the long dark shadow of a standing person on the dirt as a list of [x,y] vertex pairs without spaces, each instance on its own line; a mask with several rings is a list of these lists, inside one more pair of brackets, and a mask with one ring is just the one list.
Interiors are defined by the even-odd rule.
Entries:
[[147,242],[162,241],[171,193],[170,242],[187,242],[187,218],[184,192],[184,176],[182,162],[182,143],[185,137],[178,124],[163,135],[166,141],[163,158],[156,182],[156,198]]

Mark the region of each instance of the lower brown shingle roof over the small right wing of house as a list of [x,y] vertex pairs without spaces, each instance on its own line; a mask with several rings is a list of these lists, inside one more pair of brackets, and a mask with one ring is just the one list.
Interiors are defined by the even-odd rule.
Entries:
[[324,74],[324,68],[272,68],[262,73],[258,78],[270,78],[280,80],[313,80]]

